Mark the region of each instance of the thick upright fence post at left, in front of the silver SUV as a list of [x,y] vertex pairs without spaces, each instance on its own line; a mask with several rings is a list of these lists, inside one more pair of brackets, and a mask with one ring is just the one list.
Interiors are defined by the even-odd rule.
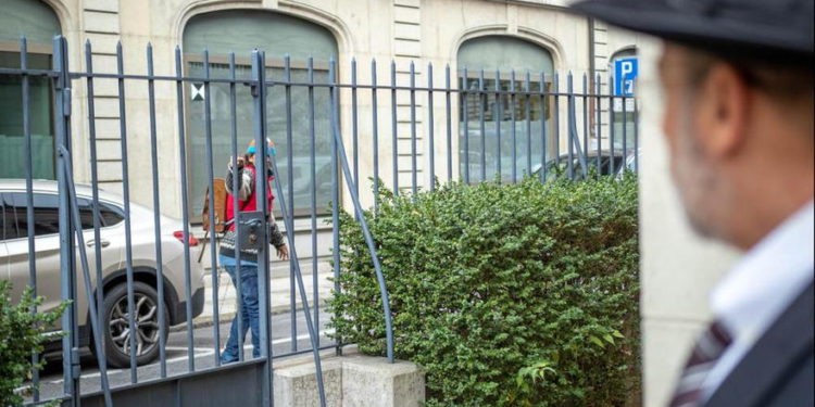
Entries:
[[[67,75],[67,46],[62,36],[53,38],[53,69],[58,72],[54,77],[54,138],[57,147],[71,145],[68,135],[68,117],[71,116],[71,82]],[[61,190],[67,186],[67,175],[63,161],[68,157],[59,155],[57,162],[57,179]],[[59,228],[60,228],[60,297],[62,301],[74,301],[76,298],[76,276],[74,270],[74,242],[71,232],[71,216],[68,214],[68,195],[62,194],[59,198]],[[62,378],[63,391],[70,397],[68,406],[79,406],[79,348],[75,327],[76,323],[76,303],[68,305],[62,315]]]

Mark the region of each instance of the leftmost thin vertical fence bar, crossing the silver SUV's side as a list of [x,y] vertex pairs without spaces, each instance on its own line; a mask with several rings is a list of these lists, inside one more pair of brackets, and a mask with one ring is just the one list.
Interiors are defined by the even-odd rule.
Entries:
[[[25,37],[20,38],[20,67],[23,71],[28,69],[28,43]],[[28,238],[28,253],[37,253],[36,244],[34,240],[34,164],[32,157],[32,125],[30,125],[30,111],[29,111],[29,88],[28,88],[28,75],[23,74],[21,77],[22,82],[22,98],[23,98],[23,137],[25,138],[25,216],[26,216],[26,237]],[[92,137],[92,136],[91,136]],[[92,152],[91,154],[93,154]],[[93,161],[96,166],[96,161]],[[95,207],[96,209],[96,207]],[[93,217],[95,227],[98,224],[98,216]],[[95,230],[99,230],[98,227]],[[97,263],[97,270],[99,269],[99,263]],[[28,256],[28,287],[32,289],[32,298],[37,297],[37,257]],[[37,314],[37,306],[33,305],[30,309],[32,314]],[[39,364],[39,353],[32,352],[32,366]],[[39,402],[39,370],[32,369],[32,386],[34,392],[32,394],[34,402]]]

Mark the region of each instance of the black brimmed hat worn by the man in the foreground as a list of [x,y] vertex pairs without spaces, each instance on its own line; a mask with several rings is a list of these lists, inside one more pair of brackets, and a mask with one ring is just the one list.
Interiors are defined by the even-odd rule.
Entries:
[[815,0],[584,0],[577,12],[734,58],[810,64]]

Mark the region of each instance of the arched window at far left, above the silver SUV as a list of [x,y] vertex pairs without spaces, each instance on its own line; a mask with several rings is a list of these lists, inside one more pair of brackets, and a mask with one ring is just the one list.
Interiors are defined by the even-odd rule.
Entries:
[[[36,0],[2,0],[0,67],[20,68],[20,37],[28,43],[28,68],[51,68],[51,38],[60,22],[50,7]],[[54,142],[51,81],[28,78],[28,114],[34,178],[53,179]],[[20,75],[0,74],[0,178],[25,176],[23,85]]]

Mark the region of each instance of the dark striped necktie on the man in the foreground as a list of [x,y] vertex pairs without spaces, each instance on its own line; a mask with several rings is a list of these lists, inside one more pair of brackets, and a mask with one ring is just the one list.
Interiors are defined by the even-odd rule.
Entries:
[[685,371],[670,400],[670,407],[695,407],[702,402],[702,385],[716,360],[732,339],[718,321],[714,321],[693,346]]

